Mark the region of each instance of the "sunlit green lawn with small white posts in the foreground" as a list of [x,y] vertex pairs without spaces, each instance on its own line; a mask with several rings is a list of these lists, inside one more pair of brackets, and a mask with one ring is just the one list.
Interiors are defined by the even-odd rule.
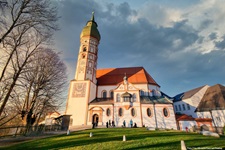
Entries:
[[[90,132],[93,137],[89,137]],[[126,135],[127,141],[123,140]],[[225,148],[225,137],[215,138],[197,133],[179,131],[147,131],[145,128],[104,128],[73,132],[70,135],[59,135],[37,139],[0,149],[180,149],[184,140],[189,148]]]

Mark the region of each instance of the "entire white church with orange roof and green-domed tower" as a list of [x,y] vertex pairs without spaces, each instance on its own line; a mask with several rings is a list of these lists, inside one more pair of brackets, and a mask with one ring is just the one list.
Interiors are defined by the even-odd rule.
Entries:
[[143,67],[97,69],[101,39],[94,14],[80,34],[76,73],[70,81],[66,115],[70,127],[121,127],[130,120],[138,127],[177,129],[173,104]]

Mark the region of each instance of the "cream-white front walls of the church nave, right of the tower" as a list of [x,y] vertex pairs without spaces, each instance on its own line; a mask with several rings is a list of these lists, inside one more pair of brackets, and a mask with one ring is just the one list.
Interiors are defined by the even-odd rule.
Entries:
[[[129,87],[126,89],[126,87]],[[121,127],[125,120],[126,126],[130,127],[130,120],[133,121],[133,124],[136,123],[138,127],[148,126],[153,128],[168,128],[168,129],[177,129],[175,114],[173,110],[172,103],[170,104],[142,104],[140,100],[140,88],[145,91],[151,91],[149,89],[144,89],[143,87],[148,88],[147,85],[132,85],[128,83],[128,86],[121,84],[115,88],[115,86],[101,86],[98,87],[98,97],[102,98],[103,91],[107,91],[107,96],[110,97],[110,91],[113,91],[113,101],[111,104],[92,104],[89,105],[89,119],[88,124],[91,125],[93,121],[93,116],[98,116],[98,125],[106,125],[106,122],[109,120],[112,122],[115,121],[117,127]],[[154,86],[151,86],[154,87]],[[113,89],[115,88],[115,89]],[[159,90],[159,87],[155,87]],[[117,94],[122,95],[123,93],[128,92],[130,94],[135,94],[136,98],[132,99],[129,102],[124,102],[123,98],[120,97],[120,101],[117,101]],[[149,96],[148,92],[144,93],[145,96]],[[107,114],[107,109],[110,110],[110,115]],[[122,115],[119,114],[119,109],[122,109]],[[150,115],[147,113],[147,109],[150,109]],[[163,109],[167,109],[168,116],[165,116]],[[134,115],[132,115],[134,111]]]

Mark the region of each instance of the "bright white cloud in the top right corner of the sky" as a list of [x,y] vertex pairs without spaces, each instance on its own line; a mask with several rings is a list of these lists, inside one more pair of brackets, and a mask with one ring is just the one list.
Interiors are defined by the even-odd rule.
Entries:
[[[219,50],[215,47],[215,43],[223,41],[225,35],[224,14],[223,0],[202,0],[199,4],[185,10],[183,17],[188,19],[188,24],[199,31],[199,36],[203,37],[202,42],[196,42],[188,49],[195,49],[203,54]],[[216,33],[217,38],[211,39],[209,36],[212,33]]]

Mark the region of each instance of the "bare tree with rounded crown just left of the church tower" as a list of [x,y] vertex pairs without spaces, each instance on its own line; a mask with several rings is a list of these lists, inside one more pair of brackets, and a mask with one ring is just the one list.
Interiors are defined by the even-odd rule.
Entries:
[[63,91],[67,83],[66,67],[58,53],[42,48],[30,60],[11,92],[7,110],[13,108],[14,113],[4,122],[20,114],[28,131],[35,121],[38,125],[44,114],[58,110],[65,99]]

